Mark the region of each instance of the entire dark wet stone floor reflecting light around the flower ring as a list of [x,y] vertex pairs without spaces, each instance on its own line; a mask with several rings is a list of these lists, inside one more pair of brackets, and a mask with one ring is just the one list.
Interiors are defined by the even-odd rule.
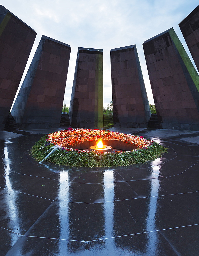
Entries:
[[41,134],[0,132],[0,255],[199,255],[199,132],[134,134],[168,152],[138,165],[70,168],[29,155]]

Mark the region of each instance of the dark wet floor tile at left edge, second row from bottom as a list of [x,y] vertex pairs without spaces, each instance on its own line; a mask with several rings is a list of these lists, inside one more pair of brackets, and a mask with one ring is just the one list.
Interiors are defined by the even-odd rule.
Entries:
[[11,189],[0,190],[0,226],[24,234],[46,211],[51,201]]

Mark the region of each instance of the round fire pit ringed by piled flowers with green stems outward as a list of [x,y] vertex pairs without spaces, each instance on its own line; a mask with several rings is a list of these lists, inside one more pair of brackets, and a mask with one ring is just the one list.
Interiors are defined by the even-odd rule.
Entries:
[[[97,146],[101,140],[104,146]],[[139,164],[160,157],[166,149],[143,136],[97,129],[69,129],[42,137],[31,155],[67,166],[112,167]]]

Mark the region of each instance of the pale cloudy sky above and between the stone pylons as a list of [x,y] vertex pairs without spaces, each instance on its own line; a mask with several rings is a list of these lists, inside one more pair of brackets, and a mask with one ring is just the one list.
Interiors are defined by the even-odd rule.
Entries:
[[67,106],[78,47],[103,49],[104,105],[112,99],[110,49],[136,45],[149,103],[153,96],[143,42],[173,27],[191,58],[178,24],[197,7],[198,0],[2,0],[1,4],[37,32],[21,82],[42,35],[71,46],[64,96]]

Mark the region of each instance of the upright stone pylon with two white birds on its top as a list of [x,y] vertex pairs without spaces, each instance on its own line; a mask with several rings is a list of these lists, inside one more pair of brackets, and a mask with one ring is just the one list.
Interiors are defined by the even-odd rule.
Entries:
[[78,48],[69,118],[72,127],[103,127],[103,50]]

